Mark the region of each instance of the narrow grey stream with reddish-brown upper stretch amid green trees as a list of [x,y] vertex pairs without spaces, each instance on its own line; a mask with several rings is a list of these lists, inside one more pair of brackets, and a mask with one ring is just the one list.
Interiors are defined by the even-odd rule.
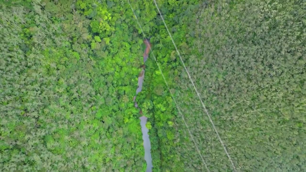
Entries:
[[[147,61],[148,56],[149,56],[149,51],[151,47],[150,39],[144,39],[144,44],[146,46],[144,50],[144,63]],[[141,92],[142,90],[142,84],[144,82],[144,69],[145,65],[143,64],[141,66],[142,70],[138,75],[138,88],[136,89],[136,95]],[[142,115],[142,110],[140,107],[138,107],[137,102],[136,102],[136,96],[134,96],[134,106],[139,109],[139,113]],[[147,162],[147,169],[146,172],[152,172],[152,157],[151,157],[151,143],[149,139],[148,132],[149,130],[146,127],[147,123],[147,117],[142,116],[139,118],[140,119],[140,125],[141,125],[141,132],[142,132],[142,139],[144,140],[144,160]]]

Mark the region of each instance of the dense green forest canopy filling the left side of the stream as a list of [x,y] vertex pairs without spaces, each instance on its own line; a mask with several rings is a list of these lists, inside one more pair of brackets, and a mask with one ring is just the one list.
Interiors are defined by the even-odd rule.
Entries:
[[0,6],[0,171],[144,169],[141,37],[114,29],[120,6],[71,2]]

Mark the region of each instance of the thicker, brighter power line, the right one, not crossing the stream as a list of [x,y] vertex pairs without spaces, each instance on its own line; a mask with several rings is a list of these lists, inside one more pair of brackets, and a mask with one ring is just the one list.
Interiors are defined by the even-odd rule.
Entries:
[[174,47],[175,47],[175,50],[176,50],[178,56],[180,57],[181,62],[182,62],[182,64],[183,64],[184,68],[185,68],[185,71],[186,71],[186,73],[187,73],[187,75],[188,75],[188,77],[189,77],[189,79],[190,79],[190,81],[191,81],[191,83],[192,83],[192,85],[193,85],[193,88],[196,90],[196,94],[198,95],[198,97],[199,97],[199,99],[200,99],[200,101],[201,101],[201,103],[202,103],[202,106],[203,106],[203,108],[204,108],[204,110],[205,110],[205,112],[206,112],[206,114],[207,114],[207,116],[208,116],[208,118],[209,118],[209,121],[211,122],[212,126],[214,127],[214,130],[215,130],[215,132],[216,132],[216,134],[217,134],[217,136],[218,136],[218,139],[219,139],[220,143],[222,144],[222,147],[224,148],[224,151],[225,151],[227,157],[229,158],[230,163],[231,163],[232,166],[233,166],[233,169],[235,170],[235,172],[237,172],[236,167],[234,166],[234,163],[233,163],[233,161],[232,161],[232,159],[231,159],[229,153],[227,152],[227,150],[226,150],[226,148],[225,148],[225,145],[224,145],[223,141],[221,140],[221,137],[219,136],[219,133],[218,133],[216,127],[215,127],[215,124],[214,124],[214,122],[212,122],[211,116],[208,114],[208,111],[207,111],[207,109],[206,109],[206,107],[205,107],[205,105],[204,105],[204,103],[203,103],[203,101],[202,101],[202,99],[201,99],[201,97],[200,97],[200,94],[199,94],[198,90],[196,89],[196,86],[195,86],[195,84],[193,83],[193,81],[192,81],[192,79],[191,79],[191,77],[190,77],[190,74],[189,74],[189,72],[188,72],[188,70],[187,70],[187,68],[186,68],[186,66],[185,66],[185,63],[183,62],[183,59],[182,59],[182,57],[181,57],[181,54],[180,54],[180,53],[178,52],[178,50],[177,50],[177,47],[176,47],[176,45],[175,45],[175,43],[174,43],[174,40],[173,40],[173,38],[172,38],[172,36],[171,36],[171,34],[170,34],[170,32],[169,32],[169,29],[168,29],[168,27],[167,27],[167,25],[166,25],[166,23],[165,23],[165,20],[164,20],[164,18],[162,17],[162,13],[160,12],[160,10],[159,10],[159,8],[158,8],[158,6],[157,6],[156,0],[153,0],[153,1],[154,1],[154,3],[155,3],[155,6],[156,6],[156,8],[157,8],[159,14],[160,14],[160,17],[162,18],[162,21],[164,22],[164,25],[165,25],[165,27],[166,27],[166,29],[167,29],[167,32],[168,32],[168,34],[169,34],[169,36],[170,36],[170,38],[171,38],[171,40],[172,40],[172,43],[173,43],[173,45],[174,45]]

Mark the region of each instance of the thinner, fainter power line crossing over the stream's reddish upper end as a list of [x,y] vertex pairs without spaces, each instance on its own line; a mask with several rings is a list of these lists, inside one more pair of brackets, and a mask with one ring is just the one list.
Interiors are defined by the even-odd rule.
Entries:
[[[144,34],[144,31],[142,30],[142,27],[141,27],[141,25],[140,25],[140,23],[139,23],[139,21],[138,21],[138,18],[136,17],[136,14],[135,14],[135,12],[134,12],[134,9],[132,8],[132,5],[131,5],[131,3],[130,3],[129,0],[127,0],[127,1],[129,2],[129,5],[130,5],[130,7],[131,7],[131,9],[132,9],[132,11],[133,11],[133,14],[134,14],[134,16],[135,16],[135,18],[136,18],[136,20],[137,20],[138,25],[139,25],[139,27],[140,27],[140,30],[141,30],[142,34],[144,35],[144,39],[146,39],[146,41],[147,41],[146,35]],[[197,144],[196,144],[196,141],[194,140],[194,138],[193,138],[193,136],[192,136],[192,134],[191,134],[191,132],[190,132],[190,130],[189,130],[189,127],[188,127],[188,125],[187,125],[187,123],[186,123],[186,121],[185,121],[185,118],[184,118],[183,114],[181,113],[181,110],[179,109],[179,106],[177,105],[176,100],[174,99],[174,96],[173,96],[173,94],[172,94],[172,92],[171,92],[171,90],[170,90],[170,87],[169,87],[169,85],[168,85],[168,82],[166,81],[166,78],[165,78],[164,74],[162,73],[162,69],[160,68],[160,66],[159,66],[159,64],[158,64],[158,62],[157,62],[157,60],[156,60],[156,58],[155,58],[155,55],[154,55],[154,53],[153,53],[153,51],[152,51],[152,48],[151,48],[151,46],[150,46],[149,44],[148,44],[148,46],[149,46],[149,48],[150,48],[150,51],[151,51],[151,53],[152,53],[152,55],[153,55],[153,57],[154,57],[154,60],[155,60],[155,62],[156,62],[156,64],[157,64],[157,66],[158,66],[158,69],[159,69],[160,73],[162,74],[162,78],[164,79],[164,81],[165,81],[165,83],[166,83],[166,85],[167,85],[167,88],[168,88],[168,90],[169,90],[169,92],[170,92],[170,94],[171,94],[171,97],[172,97],[172,99],[174,100],[174,103],[175,103],[175,106],[176,106],[176,108],[177,108],[177,110],[178,110],[178,113],[181,115],[181,117],[182,117],[182,119],[183,119],[183,121],[184,121],[184,124],[185,124],[185,126],[186,126],[186,128],[187,128],[187,130],[188,130],[188,133],[189,133],[189,135],[190,135],[190,137],[191,137],[193,143],[195,144],[196,150],[198,151],[198,153],[199,153],[199,155],[200,155],[200,157],[201,157],[201,159],[202,159],[202,162],[203,162],[203,164],[204,164],[206,170],[209,172],[208,167],[207,167],[207,165],[206,165],[206,163],[205,163],[205,161],[204,161],[204,159],[203,159],[203,157],[202,157],[202,154],[201,154],[201,152],[200,152],[200,150],[199,150],[199,148],[198,148],[198,146],[197,146]]]

